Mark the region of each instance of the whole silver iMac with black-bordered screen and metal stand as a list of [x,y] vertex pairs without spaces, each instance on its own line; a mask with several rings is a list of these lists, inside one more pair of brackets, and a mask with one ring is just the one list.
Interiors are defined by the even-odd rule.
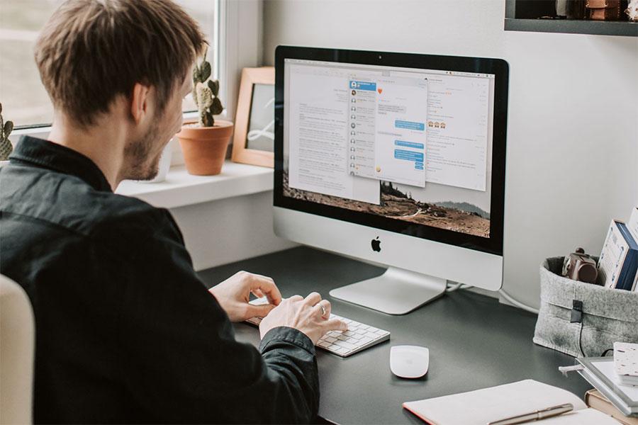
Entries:
[[277,47],[275,233],[388,266],[330,291],[388,314],[499,290],[507,110],[504,60]]

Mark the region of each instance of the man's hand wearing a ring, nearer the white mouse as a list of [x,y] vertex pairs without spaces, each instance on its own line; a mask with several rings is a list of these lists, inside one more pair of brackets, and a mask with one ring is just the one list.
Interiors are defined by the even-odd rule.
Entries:
[[[323,308],[321,308],[323,306]],[[261,338],[270,329],[286,326],[302,331],[317,344],[328,331],[347,331],[348,325],[339,319],[330,319],[330,301],[322,300],[318,293],[306,298],[293,295],[274,307],[259,324]]]

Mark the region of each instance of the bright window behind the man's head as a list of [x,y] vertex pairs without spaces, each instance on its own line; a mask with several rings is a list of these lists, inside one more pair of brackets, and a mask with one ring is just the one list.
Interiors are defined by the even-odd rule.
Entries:
[[[50,125],[53,108],[33,60],[38,33],[60,0],[0,0],[0,102],[5,120],[16,128]],[[220,75],[220,0],[176,0],[200,23],[210,47],[213,78]],[[184,111],[194,111],[191,96]]]

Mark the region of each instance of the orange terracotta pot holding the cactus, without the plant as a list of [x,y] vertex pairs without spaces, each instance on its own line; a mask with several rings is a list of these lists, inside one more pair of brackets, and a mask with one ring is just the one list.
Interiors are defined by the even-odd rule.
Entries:
[[215,120],[213,127],[191,127],[196,121],[184,123],[177,133],[181,152],[189,174],[213,176],[220,174],[226,157],[226,148],[233,135],[233,123]]

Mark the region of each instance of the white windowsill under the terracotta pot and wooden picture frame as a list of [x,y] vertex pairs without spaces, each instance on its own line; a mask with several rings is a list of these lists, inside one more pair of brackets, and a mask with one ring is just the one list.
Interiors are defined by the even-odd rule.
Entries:
[[217,176],[192,176],[185,166],[172,166],[166,180],[160,183],[125,180],[116,193],[140,198],[159,208],[178,208],[272,188],[272,169],[226,161]]

